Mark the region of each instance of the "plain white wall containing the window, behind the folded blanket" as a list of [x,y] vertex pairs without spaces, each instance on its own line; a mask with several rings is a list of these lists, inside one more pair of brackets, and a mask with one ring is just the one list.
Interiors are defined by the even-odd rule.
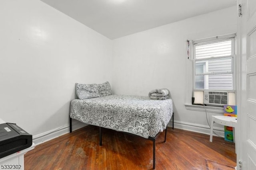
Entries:
[[206,114],[184,106],[192,94],[186,40],[236,33],[236,25],[234,6],[113,40],[114,93],[147,96],[154,88],[168,88],[176,125],[204,133]]

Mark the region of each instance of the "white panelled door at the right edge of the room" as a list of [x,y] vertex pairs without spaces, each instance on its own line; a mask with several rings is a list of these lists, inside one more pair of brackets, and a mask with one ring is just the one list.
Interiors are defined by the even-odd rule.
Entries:
[[[256,170],[256,0],[238,0],[238,155],[242,170]],[[240,165],[238,163],[238,170]]]

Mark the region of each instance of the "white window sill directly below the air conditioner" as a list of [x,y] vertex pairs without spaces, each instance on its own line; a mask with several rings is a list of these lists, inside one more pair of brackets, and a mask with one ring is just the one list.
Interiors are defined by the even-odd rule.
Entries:
[[194,110],[194,111],[203,111],[205,110],[210,113],[224,113],[223,107],[213,107],[213,106],[200,106],[200,105],[192,105],[192,104],[185,104],[187,110]]

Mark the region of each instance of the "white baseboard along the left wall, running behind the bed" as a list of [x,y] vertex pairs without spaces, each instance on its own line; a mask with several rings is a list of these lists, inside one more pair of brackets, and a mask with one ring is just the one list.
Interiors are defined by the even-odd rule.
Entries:
[[[87,126],[86,123],[82,123],[80,121],[73,121],[72,122],[72,131],[76,129],[80,129],[82,127]],[[39,145],[41,143],[44,143],[46,141],[50,141],[51,139],[54,139],[56,137],[59,137],[61,135],[64,135],[66,133],[69,133],[69,125],[64,125],[62,127],[53,129],[51,131],[47,131],[38,135],[33,136],[33,143],[35,145]]]

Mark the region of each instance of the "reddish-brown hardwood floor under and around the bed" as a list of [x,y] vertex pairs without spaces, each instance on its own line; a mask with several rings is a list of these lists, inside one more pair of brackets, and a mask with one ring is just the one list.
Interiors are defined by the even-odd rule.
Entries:
[[[26,170],[153,169],[152,141],[110,129],[87,126],[26,153]],[[234,170],[235,145],[220,137],[168,128],[156,140],[156,170]]]

